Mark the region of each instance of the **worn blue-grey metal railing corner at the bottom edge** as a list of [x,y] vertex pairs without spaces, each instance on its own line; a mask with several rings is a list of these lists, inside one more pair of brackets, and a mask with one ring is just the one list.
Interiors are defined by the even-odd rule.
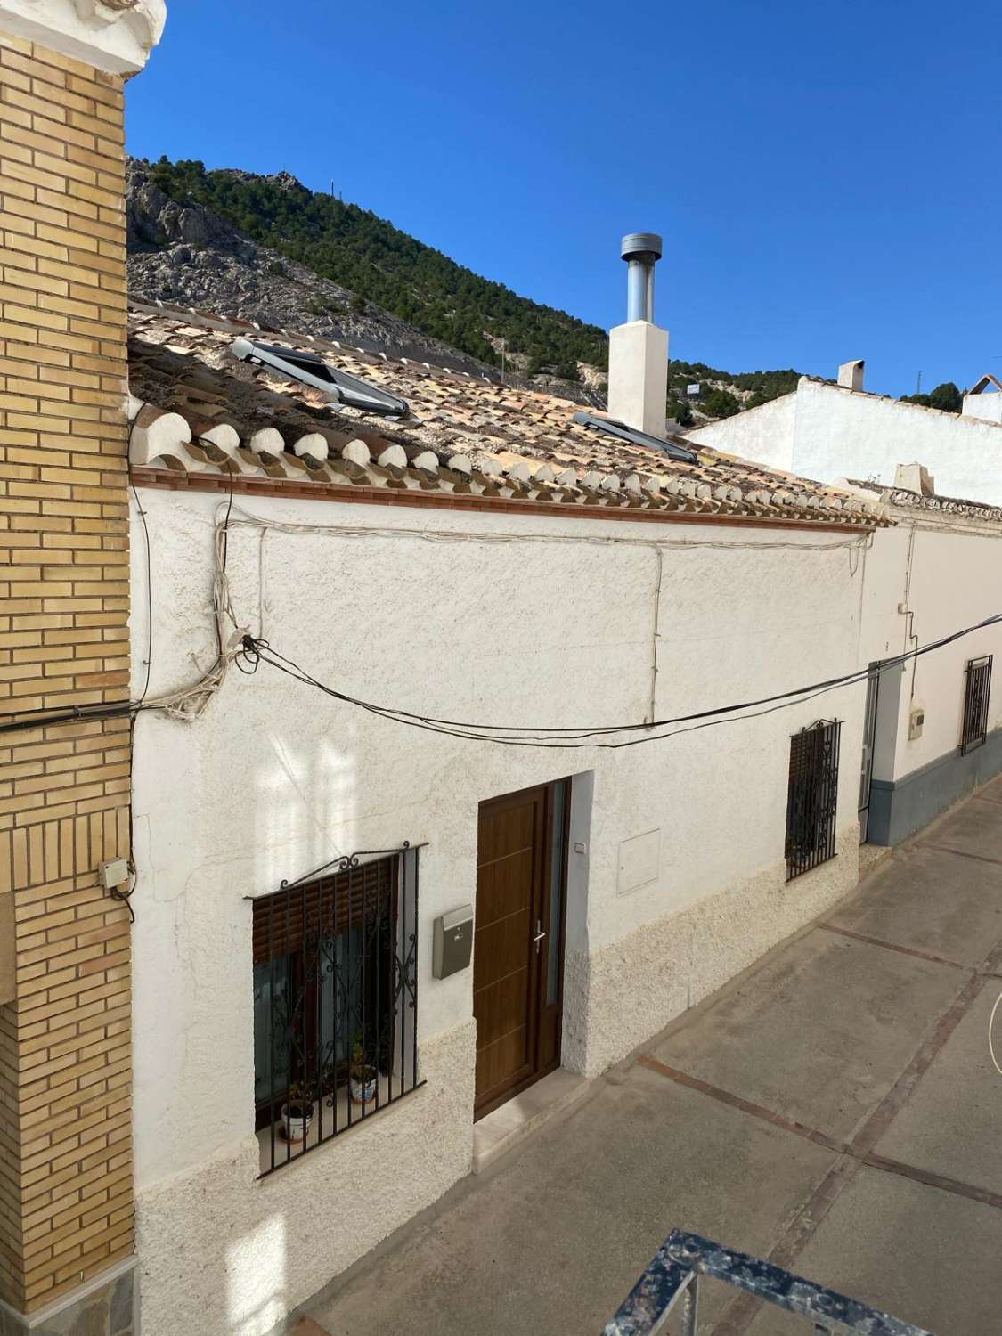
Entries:
[[774,1267],[759,1257],[731,1252],[711,1238],[673,1229],[603,1336],[655,1336],[665,1332],[669,1313],[681,1300],[681,1333],[696,1336],[699,1277],[721,1280],[776,1308],[814,1323],[815,1332],[858,1332],[866,1336],[931,1336],[931,1332],[868,1308],[812,1280]]

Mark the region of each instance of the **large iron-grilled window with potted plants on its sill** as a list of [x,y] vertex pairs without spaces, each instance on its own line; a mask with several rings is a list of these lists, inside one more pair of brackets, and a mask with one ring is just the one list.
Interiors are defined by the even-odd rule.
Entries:
[[254,1102],[262,1173],[417,1077],[418,850],[353,854],[254,900]]

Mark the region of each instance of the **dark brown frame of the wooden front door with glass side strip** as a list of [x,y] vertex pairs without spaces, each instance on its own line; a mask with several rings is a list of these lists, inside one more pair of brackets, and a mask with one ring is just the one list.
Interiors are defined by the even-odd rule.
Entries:
[[[544,954],[541,950],[537,959],[540,965],[533,969],[532,957],[529,958],[529,967],[532,971],[532,998],[529,1010],[529,1029],[530,1029],[530,1042],[532,1042],[532,1071],[518,1079],[512,1081],[509,1086],[500,1090],[497,1094],[492,1096],[490,1100],[484,1104],[477,1104],[474,1092],[474,1105],[473,1105],[473,1121],[478,1122],[486,1114],[493,1113],[494,1109],[500,1109],[501,1105],[508,1104],[516,1096],[521,1094],[522,1090],[528,1090],[529,1086],[541,1081],[542,1077],[549,1075],[550,1071],[556,1071],[560,1066],[560,1050],[562,1038],[562,1021],[564,1021],[564,955],[566,943],[566,886],[568,886],[568,851],[569,851],[569,835],[570,835],[570,778],[550,780],[542,784],[530,784],[528,788],[518,788],[510,794],[498,794],[494,798],[485,799],[477,807],[477,826],[480,826],[480,814],[485,807],[490,807],[494,803],[506,803],[512,799],[520,799],[528,794],[542,792],[544,796],[544,839],[542,848],[540,851],[540,858],[542,862],[541,871],[541,896],[542,903],[540,906],[540,919],[552,926],[553,923],[553,895],[558,896],[557,908],[557,923],[558,923],[558,943],[557,943],[557,981],[556,981],[556,1002],[546,1003],[546,983],[548,983],[548,963],[549,955]],[[564,790],[564,811],[562,822],[560,822],[560,828],[557,828],[557,822],[554,820],[554,807],[556,807],[556,791],[557,788]],[[560,875],[557,884],[554,886],[553,878],[553,863],[554,852],[557,844],[561,848],[560,859]],[[474,888],[474,904],[476,904],[476,888]],[[533,914],[529,914],[529,929],[532,931]],[[474,918],[474,953],[476,953],[476,918]],[[546,933],[546,946],[549,946],[549,929]],[[526,943],[528,946],[528,943]],[[541,1046],[544,1041],[544,1027],[550,1027],[549,1035],[549,1049],[552,1050],[548,1055],[541,1054]]]

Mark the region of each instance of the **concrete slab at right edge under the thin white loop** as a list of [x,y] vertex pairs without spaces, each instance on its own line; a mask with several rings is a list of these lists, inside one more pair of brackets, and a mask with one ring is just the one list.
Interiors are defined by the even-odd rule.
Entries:
[[[991,1066],[987,1042],[999,991],[1002,983],[986,981],[874,1150],[1002,1196],[1002,1077]],[[997,1034],[999,1050],[998,1021]]]

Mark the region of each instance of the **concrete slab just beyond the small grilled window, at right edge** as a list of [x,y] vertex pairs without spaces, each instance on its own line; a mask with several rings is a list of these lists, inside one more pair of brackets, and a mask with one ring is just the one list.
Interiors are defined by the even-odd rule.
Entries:
[[1002,938],[1002,870],[919,846],[827,922],[975,969]]

